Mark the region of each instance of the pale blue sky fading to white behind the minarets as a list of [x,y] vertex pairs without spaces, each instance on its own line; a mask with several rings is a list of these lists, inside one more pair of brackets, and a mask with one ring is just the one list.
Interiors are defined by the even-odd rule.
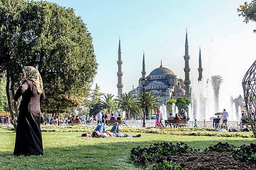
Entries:
[[198,78],[199,45],[203,77],[221,75],[234,96],[256,59],[255,23],[245,24],[237,8],[243,0],[49,0],[75,9],[93,37],[98,83],[103,93],[117,94],[117,51],[121,35],[123,92],[137,87],[143,50],[147,75],[160,66],[184,79],[184,45],[188,29],[191,78]]

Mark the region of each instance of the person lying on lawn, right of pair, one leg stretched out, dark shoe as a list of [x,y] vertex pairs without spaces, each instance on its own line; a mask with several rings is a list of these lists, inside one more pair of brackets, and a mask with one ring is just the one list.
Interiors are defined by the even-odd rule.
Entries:
[[92,133],[92,137],[102,137],[102,138],[107,138],[107,137],[140,137],[141,135],[138,134],[136,136],[128,136],[125,133],[119,133],[119,124],[118,122],[116,122],[112,129],[110,130],[110,132],[106,131],[106,130],[94,130]]

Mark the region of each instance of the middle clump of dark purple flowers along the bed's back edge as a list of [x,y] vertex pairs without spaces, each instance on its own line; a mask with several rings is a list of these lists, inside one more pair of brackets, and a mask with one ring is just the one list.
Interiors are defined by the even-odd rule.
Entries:
[[221,143],[219,142],[218,144],[215,144],[213,147],[209,146],[208,148],[206,148],[204,150],[204,152],[211,152],[211,151],[215,151],[215,152],[233,152],[237,150],[237,147],[233,144],[228,144],[226,143]]

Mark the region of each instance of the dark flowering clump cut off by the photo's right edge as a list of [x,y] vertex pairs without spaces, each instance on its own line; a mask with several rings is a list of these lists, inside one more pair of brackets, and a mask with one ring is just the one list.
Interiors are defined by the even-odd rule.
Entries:
[[236,160],[256,163],[256,144],[251,143],[249,146],[243,144],[240,149],[233,151],[232,156]]

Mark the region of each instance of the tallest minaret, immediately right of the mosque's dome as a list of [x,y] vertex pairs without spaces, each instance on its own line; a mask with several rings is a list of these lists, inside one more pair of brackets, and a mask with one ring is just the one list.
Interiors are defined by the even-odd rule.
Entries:
[[185,56],[184,56],[184,59],[185,59],[185,68],[184,68],[184,71],[185,71],[185,81],[184,81],[184,84],[185,84],[185,90],[186,90],[186,98],[189,98],[189,94],[190,94],[190,78],[189,78],[189,71],[190,71],[190,68],[189,68],[189,43],[188,43],[188,34],[187,34],[187,31],[186,31],[186,42],[185,42]]

